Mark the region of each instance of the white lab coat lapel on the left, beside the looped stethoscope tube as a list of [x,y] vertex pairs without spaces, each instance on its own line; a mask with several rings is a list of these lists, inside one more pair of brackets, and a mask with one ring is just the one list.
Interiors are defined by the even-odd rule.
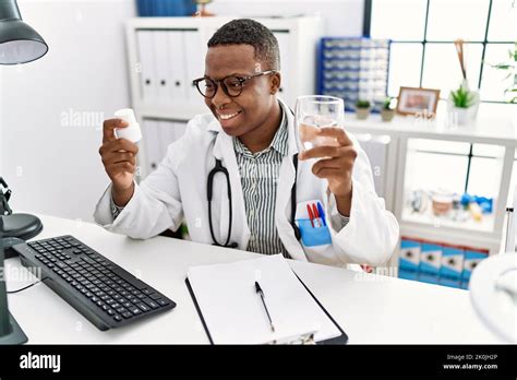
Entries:
[[[214,144],[214,157],[220,159],[223,166],[228,170],[231,186],[231,203],[232,203],[232,224],[231,224],[231,237],[230,242],[237,242],[239,249],[245,250],[248,248],[248,241],[250,239],[250,228],[248,227],[248,219],[245,215],[244,195],[242,193],[241,178],[239,168],[237,166],[236,153],[233,150],[233,142],[231,136],[226,134],[219,122],[214,120],[209,127],[209,130],[217,132],[217,138]],[[229,202],[227,195],[226,181],[221,187],[221,202],[220,202],[220,221],[219,221],[219,242],[225,242],[228,234],[229,224]],[[214,190],[216,191],[216,190]],[[214,221],[215,222],[215,221]],[[216,229],[217,227],[215,227]],[[217,229],[216,229],[217,230]]]

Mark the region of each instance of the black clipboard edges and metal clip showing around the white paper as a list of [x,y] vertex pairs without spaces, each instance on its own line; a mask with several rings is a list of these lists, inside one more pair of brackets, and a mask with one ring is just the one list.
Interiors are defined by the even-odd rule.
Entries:
[[[293,272],[292,272],[293,273]],[[346,344],[348,342],[348,335],[345,333],[345,331],[341,329],[341,326],[334,320],[334,318],[328,313],[328,311],[323,307],[323,305],[320,302],[320,300],[312,294],[312,292],[306,287],[306,285],[300,280],[300,277],[298,275],[296,275],[296,273],[293,273],[294,276],[298,278],[298,281],[303,285],[303,288],[309,293],[309,295],[312,297],[312,299],[315,301],[315,304],[317,305],[317,307],[321,309],[321,311],[323,311],[324,316],[326,318],[328,318],[328,321],[330,321],[333,323],[333,329],[335,328],[338,332],[339,332],[339,335],[338,336],[335,336],[335,337],[332,337],[332,339],[327,339],[325,341],[321,341],[321,342],[314,342],[313,340],[313,333],[302,333],[302,335],[296,335],[296,336],[289,336],[288,339],[286,340],[282,340],[281,342],[275,342],[275,341],[272,341],[269,342],[270,344],[276,344],[276,343],[292,343],[292,344],[310,344],[310,343],[315,343],[315,344],[318,344],[318,345],[336,345],[336,344]],[[296,280],[294,280],[296,281]],[[201,310],[201,306],[199,304],[199,300],[194,294],[194,290],[193,290],[193,287],[189,281],[189,278],[187,277],[185,278],[185,285],[189,289],[189,293],[192,297],[192,300],[194,302],[194,306],[197,310],[197,314],[200,316],[200,319],[201,319],[201,322],[203,324],[203,328],[206,332],[206,335],[211,342],[211,344],[214,344],[214,339],[213,339],[213,334],[211,333],[209,329],[208,329],[208,324],[205,320],[205,317],[203,316],[203,312]],[[266,292],[266,299],[267,298],[267,292]],[[269,298],[270,299],[270,298]],[[320,311],[320,312],[321,312]],[[311,336],[312,335],[312,336]]]

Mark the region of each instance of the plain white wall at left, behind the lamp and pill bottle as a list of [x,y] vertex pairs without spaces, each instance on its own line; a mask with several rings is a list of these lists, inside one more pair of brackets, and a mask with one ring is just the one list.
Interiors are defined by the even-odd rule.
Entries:
[[123,22],[131,0],[19,1],[43,59],[0,70],[0,174],[14,211],[92,221],[108,183],[101,121],[130,104]]

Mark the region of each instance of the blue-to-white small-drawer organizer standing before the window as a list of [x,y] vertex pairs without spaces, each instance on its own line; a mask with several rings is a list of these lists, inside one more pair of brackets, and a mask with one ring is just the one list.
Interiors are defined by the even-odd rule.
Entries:
[[[357,100],[370,100],[378,111],[386,97],[389,40],[325,37],[320,45],[317,91],[345,100],[354,110]],[[374,104],[376,102],[376,104]]]

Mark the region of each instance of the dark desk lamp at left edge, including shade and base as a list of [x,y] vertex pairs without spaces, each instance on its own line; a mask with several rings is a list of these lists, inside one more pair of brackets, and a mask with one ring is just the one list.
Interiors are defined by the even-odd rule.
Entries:
[[[47,54],[48,46],[41,36],[22,21],[15,0],[0,0],[0,64],[20,64],[35,61]],[[0,344],[21,344],[27,342],[20,325],[9,312],[5,290],[3,260],[4,248],[13,239],[29,239],[43,228],[34,215],[12,214],[9,207],[11,191],[0,179]]]

